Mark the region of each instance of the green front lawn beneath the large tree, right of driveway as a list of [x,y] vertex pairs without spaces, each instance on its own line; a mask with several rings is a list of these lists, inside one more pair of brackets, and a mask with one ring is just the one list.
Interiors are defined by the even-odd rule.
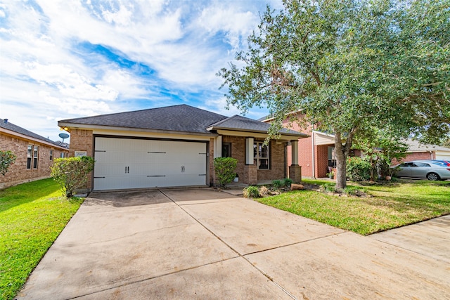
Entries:
[[[329,181],[308,181],[323,184]],[[398,181],[384,184],[349,184],[372,197],[327,195],[314,190],[296,190],[258,202],[290,211],[361,235],[405,226],[450,214],[450,182]]]

